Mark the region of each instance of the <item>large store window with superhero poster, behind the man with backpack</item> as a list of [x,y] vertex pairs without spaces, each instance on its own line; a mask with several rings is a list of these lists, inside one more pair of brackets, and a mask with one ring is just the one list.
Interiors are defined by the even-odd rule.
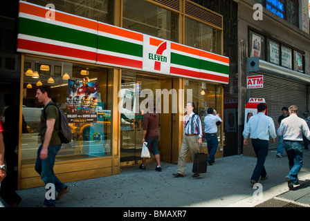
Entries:
[[[43,69],[44,65],[46,69]],[[44,105],[35,98],[37,86],[49,85],[52,99],[66,113],[73,141],[62,144],[56,160],[78,160],[111,155],[111,88],[107,68],[26,56],[24,61],[23,116],[27,125],[21,135],[21,164],[37,157],[40,117]],[[27,76],[28,74],[31,74]],[[38,74],[38,78],[33,78]],[[64,79],[69,75],[70,79]],[[51,82],[51,83],[48,83]]]

